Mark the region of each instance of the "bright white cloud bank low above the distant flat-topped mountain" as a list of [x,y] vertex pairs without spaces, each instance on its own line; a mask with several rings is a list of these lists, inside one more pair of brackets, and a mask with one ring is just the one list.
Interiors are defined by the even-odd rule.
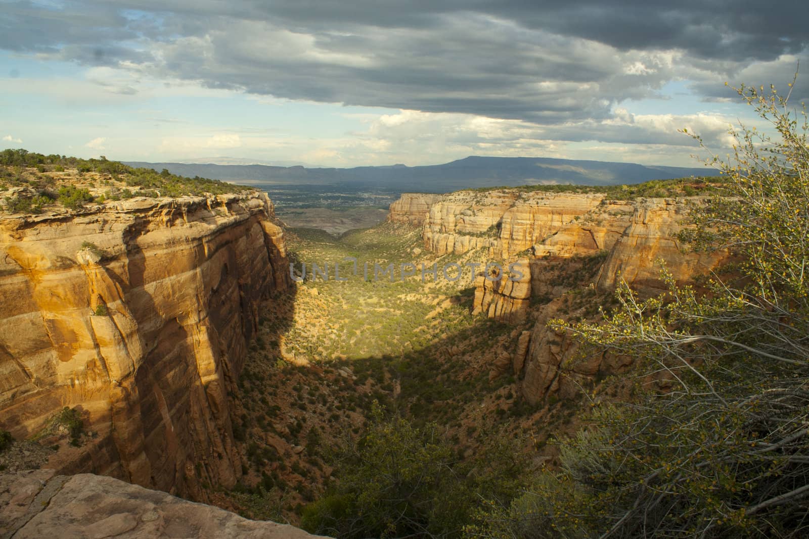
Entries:
[[[647,165],[699,166],[691,156],[697,144],[678,129],[699,133],[711,149],[731,144],[721,114],[635,114],[618,109],[608,120],[562,125],[533,124],[460,113],[401,110],[354,115],[366,128],[339,140],[313,141],[307,162],[320,166],[438,164],[468,155],[537,156],[639,162]],[[298,158],[299,145],[290,148]]]

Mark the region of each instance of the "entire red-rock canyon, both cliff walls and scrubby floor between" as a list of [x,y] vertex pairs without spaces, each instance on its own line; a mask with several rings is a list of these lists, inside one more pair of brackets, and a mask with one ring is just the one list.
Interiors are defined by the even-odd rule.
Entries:
[[[50,448],[40,465],[60,477],[99,474],[266,518],[233,494],[247,490],[286,500],[277,515],[292,521],[329,484],[319,444],[361,432],[374,401],[442,422],[466,456],[502,414],[510,436],[530,432],[540,447],[575,432],[582,388],[632,368],[609,353],[582,361],[549,320],[597,320],[621,280],[660,293],[661,263],[678,282],[717,267],[725,254],[684,252],[678,239],[701,200],[405,193],[388,223],[339,238],[285,229],[255,191],[2,215],[0,427]],[[291,282],[290,261],[357,256],[502,270]],[[70,443],[64,411],[83,422]],[[128,488],[74,477],[105,496]]]

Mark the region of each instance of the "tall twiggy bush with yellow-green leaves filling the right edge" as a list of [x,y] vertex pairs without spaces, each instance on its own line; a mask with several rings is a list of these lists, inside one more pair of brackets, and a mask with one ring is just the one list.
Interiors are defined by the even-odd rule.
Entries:
[[561,469],[493,503],[471,535],[807,537],[809,126],[774,89],[739,95],[777,138],[742,126],[734,160],[711,160],[725,183],[688,239],[742,262],[708,293],[669,277],[646,301],[621,288],[601,324],[551,322],[637,358],[671,390],[597,408],[562,444]]

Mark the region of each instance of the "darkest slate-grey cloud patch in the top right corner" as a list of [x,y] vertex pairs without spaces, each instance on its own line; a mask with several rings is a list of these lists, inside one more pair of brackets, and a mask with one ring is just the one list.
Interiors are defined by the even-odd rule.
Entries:
[[506,2],[527,27],[596,40],[616,48],[680,48],[697,57],[772,60],[800,53],[809,44],[802,0],[680,0],[649,2]]

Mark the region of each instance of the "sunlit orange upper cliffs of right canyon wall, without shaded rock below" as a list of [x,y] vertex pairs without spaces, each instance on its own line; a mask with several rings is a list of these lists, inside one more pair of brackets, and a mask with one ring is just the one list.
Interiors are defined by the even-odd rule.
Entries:
[[[415,222],[406,209],[413,205],[412,197],[393,204],[397,220]],[[608,200],[599,193],[519,189],[461,191],[433,201],[422,237],[426,249],[440,255],[483,249],[505,263],[527,256],[531,293],[522,284],[513,286],[505,280],[479,276],[476,281],[475,312],[515,322],[523,320],[530,297],[558,297],[564,292],[549,279],[547,259],[606,255],[595,279],[602,292],[615,288],[619,279],[643,294],[659,292],[661,260],[677,280],[708,272],[723,255],[684,252],[676,238],[689,204],[699,201],[696,197]],[[421,215],[421,205],[416,213]]]

